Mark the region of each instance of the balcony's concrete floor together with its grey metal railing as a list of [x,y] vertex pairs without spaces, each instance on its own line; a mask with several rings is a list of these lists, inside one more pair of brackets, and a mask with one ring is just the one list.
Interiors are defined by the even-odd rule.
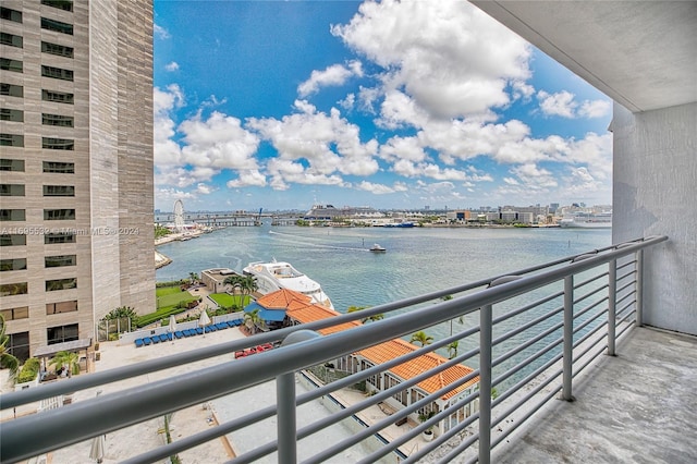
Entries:
[[[667,240],[10,393],[4,412],[74,401],[3,423],[0,457],[70,451],[105,434],[119,440],[224,398],[234,417],[108,457],[161,462],[227,437],[235,463],[695,462],[697,341],[637,327],[653,265],[645,251]],[[394,342],[436,325],[450,335],[423,347]],[[268,343],[277,347],[234,356]]]

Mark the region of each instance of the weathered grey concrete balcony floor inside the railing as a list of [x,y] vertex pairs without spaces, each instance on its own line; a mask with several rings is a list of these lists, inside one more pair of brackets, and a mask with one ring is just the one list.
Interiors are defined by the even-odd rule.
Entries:
[[697,463],[697,338],[636,328],[492,463]]

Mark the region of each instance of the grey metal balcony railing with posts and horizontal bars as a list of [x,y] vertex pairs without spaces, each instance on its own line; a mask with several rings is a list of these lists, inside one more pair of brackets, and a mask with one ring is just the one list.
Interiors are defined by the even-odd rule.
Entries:
[[[276,417],[276,439],[266,443],[256,440],[254,448],[237,453],[232,462],[294,463],[301,454],[304,462],[321,462],[340,460],[342,452],[352,449],[364,463],[488,463],[491,450],[550,399],[561,394],[564,400],[573,400],[574,378],[601,354],[613,355],[617,338],[641,323],[643,253],[667,240],[651,236],[626,242],[510,276],[5,394],[2,410],[182,364],[195,368],[197,361],[227,355],[212,367],[175,379],[147,382],[8,420],[0,427],[0,457],[3,463],[26,460],[276,380],[274,405],[173,443],[120,457],[129,463],[161,461],[218,437],[243,434],[245,428]],[[384,318],[327,335],[318,333],[376,315]],[[357,362],[362,350],[417,331],[440,331],[444,335],[381,364]],[[278,349],[231,359],[233,353],[245,347],[280,342]],[[452,353],[453,342],[462,354]],[[450,358],[441,355],[442,362],[433,369],[408,378],[394,375],[393,369],[416,363],[428,353],[444,354],[449,345]],[[445,377],[443,373],[455,365],[474,370],[448,379],[440,389],[415,393],[429,378]],[[331,378],[322,378],[328,371]],[[296,393],[299,379],[311,387]],[[367,386],[368,394],[353,404],[339,405],[340,392],[356,384]],[[331,403],[327,407],[332,412],[313,417],[301,427],[296,408],[308,403]],[[375,405],[389,407],[389,414],[362,419],[363,413]],[[430,416],[425,414],[429,411]],[[419,423],[419,416],[429,418]],[[399,437],[386,439],[384,429],[407,422],[409,426],[401,427]],[[311,441],[316,434],[342,427],[352,431],[344,431],[339,439]],[[420,440],[421,432],[431,428],[436,438]],[[298,444],[298,440],[303,441]],[[313,443],[309,450],[303,448],[307,440]]]

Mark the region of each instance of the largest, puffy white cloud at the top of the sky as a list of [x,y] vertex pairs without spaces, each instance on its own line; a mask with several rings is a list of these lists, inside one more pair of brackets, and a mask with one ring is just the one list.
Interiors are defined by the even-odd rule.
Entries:
[[509,102],[509,81],[529,77],[529,46],[467,2],[364,2],[332,34],[384,69],[433,118],[488,113]]

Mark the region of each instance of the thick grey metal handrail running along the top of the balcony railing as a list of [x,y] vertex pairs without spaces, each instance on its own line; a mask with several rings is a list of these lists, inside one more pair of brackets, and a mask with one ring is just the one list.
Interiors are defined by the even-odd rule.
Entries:
[[[222,363],[212,367],[179,375],[176,378],[158,380],[127,390],[103,394],[99,396],[99,399],[95,398],[81,401],[69,407],[20,417],[4,423],[0,428],[0,442],[3,443],[2,460],[3,462],[14,462],[27,459],[46,451],[84,441],[91,437],[158,417],[169,412],[205,403],[206,401],[274,379],[279,375],[294,373],[307,366],[317,365],[327,359],[335,359],[367,346],[421,330],[426,327],[425,320],[428,320],[428,327],[452,320],[476,312],[481,307],[493,305],[527,291],[560,281],[568,276],[611,262],[612,260],[616,260],[617,258],[667,240],[667,236],[646,237],[639,241],[603,248],[606,253],[596,251],[590,255],[577,255],[575,259],[572,259],[573,262],[570,262],[567,266],[547,269],[542,272],[524,276],[519,279],[511,280],[479,292],[469,293],[450,301],[438,302],[437,305],[430,306],[428,309],[417,308],[354,329],[315,338],[293,345],[283,346],[279,350],[259,353],[255,355],[253,359],[241,358],[234,362]],[[536,268],[545,269],[564,261],[565,260],[558,260],[554,261],[553,265],[547,264]],[[492,279],[489,279],[487,281],[491,282],[491,280]],[[470,284],[454,289],[468,286],[470,286]],[[429,294],[429,300],[456,293],[453,291],[454,289],[433,292]],[[458,292],[462,290],[458,290]],[[428,300],[425,300],[425,296],[421,295],[402,302],[376,306],[371,308],[371,312],[376,314],[384,313],[425,301]],[[426,312],[427,317],[425,317]],[[366,314],[367,313],[362,312],[360,315],[342,315],[331,318],[330,320],[303,325],[301,326],[301,330],[316,330],[317,328],[331,327],[347,320],[363,318]],[[274,334],[265,333],[255,335],[252,339],[255,343],[267,340],[278,340],[279,337],[288,335],[297,330],[298,329],[283,329]],[[10,393],[3,395],[2,408],[14,407],[36,401],[37,399],[48,398],[54,395],[57,391],[82,390],[147,374],[152,370],[172,367],[182,363],[229,354],[243,346],[247,346],[248,343],[248,341],[244,340],[221,343],[219,345],[199,349],[195,352],[154,359],[136,366],[112,369],[113,371],[97,373],[85,376],[84,379],[75,378],[66,380],[60,382],[64,384],[59,384],[60,388],[46,386],[40,389],[29,389],[28,391]],[[201,378],[205,378],[206,381],[201,382]],[[36,390],[38,394],[32,394],[34,393],[32,390]],[[45,392],[40,392],[41,390]],[[71,424],[71,427],[63,427],[63,424]],[[12,443],[12,445],[9,445],[10,443]]]

